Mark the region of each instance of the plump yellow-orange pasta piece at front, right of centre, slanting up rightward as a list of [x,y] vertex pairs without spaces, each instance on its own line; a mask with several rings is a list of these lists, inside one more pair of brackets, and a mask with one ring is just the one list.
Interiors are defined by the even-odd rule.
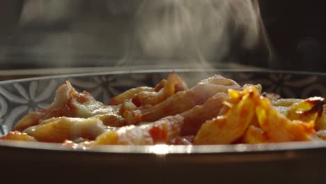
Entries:
[[243,92],[229,90],[226,100],[230,109],[224,116],[208,120],[194,137],[194,144],[231,144],[244,135],[254,117],[255,100],[258,91],[249,87]]

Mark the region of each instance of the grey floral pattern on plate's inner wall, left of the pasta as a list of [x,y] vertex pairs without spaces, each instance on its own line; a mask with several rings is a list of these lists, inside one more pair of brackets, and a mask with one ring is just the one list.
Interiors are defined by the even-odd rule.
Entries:
[[57,86],[58,81],[54,79],[47,84],[31,81],[0,86],[0,118],[3,121],[0,124],[6,124],[2,126],[2,132],[13,128],[24,114],[47,107]]

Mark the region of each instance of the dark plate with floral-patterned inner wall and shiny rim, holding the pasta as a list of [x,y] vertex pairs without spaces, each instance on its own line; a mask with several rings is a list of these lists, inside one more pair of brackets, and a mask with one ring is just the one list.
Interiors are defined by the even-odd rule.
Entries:
[[[172,70],[137,70],[60,75],[0,82],[0,134],[13,128],[24,114],[44,108],[54,91],[69,80],[78,91],[95,99],[111,97],[136,86],[154,86]],[[262,84],[282,98],[326,96],[326,74],[272,70],[174,70],[193,86],[200,79],[221,74],[239,84]],[[61,144],[0,141],[1,171],[26,181],[60,176],[63,181],[142,183],[246,183],[320,181],[326,178],[326,143],[298,142],[217,146],[98,146],[91,150]],[[23,177],[24,176],[24,177]]]

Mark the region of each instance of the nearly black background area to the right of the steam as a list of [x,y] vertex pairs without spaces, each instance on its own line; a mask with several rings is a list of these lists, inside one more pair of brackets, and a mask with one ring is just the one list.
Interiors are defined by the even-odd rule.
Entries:
[[275,68],[326,71],[325,1],[260,1]]

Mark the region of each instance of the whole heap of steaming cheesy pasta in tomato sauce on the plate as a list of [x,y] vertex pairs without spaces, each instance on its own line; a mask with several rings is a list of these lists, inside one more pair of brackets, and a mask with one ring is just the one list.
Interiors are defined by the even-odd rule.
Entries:
[[324,98],[280,98],[260,84],[213,75],[192,87],[176,72],[104,105],[70,82],[26,114],[6,140],[81,145],[260,144],[326,139]]

